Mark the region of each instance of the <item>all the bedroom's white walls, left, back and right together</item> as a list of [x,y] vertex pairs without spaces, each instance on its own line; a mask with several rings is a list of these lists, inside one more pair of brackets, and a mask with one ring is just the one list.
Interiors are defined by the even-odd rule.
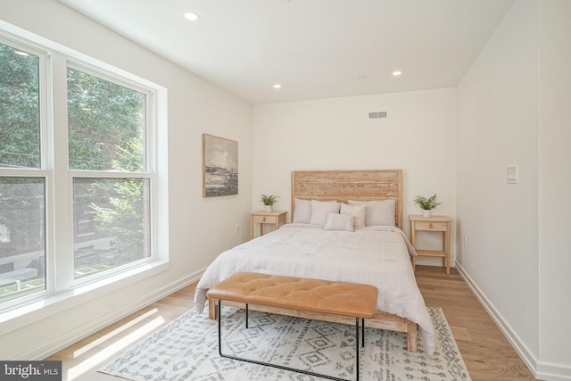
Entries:
[[[258,195],[280,195],[277,208],[289,211],[291,170],[400,168],[405,231],[406,217],[418,213],[414,195],[438,193],[436,211],[454,219],[452,256],[468,281],[532,367],[571,379],[570,4],[518,0],[458,90],[257,105],[252,113],[55,0],[0,3],[1,20],[168,88],[172,264],[135,285],[31,314],[0,337],[0,358],[42,358],[191,281],[248,238]],[[389,118],[368,120],[369,111]],[[203,199],[203,133],[239,142],[240,195]],[[506,166],[514,164],[520,183],[508,186]],[[456,239],[463,234],[467,247]]]

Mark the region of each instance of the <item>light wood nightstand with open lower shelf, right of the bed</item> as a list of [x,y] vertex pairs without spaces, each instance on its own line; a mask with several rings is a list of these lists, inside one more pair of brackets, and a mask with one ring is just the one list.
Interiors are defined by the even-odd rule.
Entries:
[[[446,274],[450,274],[450,224],[451,219],[447,216],[422,217],[417,215],[409,216],[410,219],[410,244],[414,247],[418,255],[427,257],[442,257],[443,267],[446,267]],[[417,231],[442,232],[443,250],[420,250],[416,244]],[[412,268],[416,269],[416,258],[412,258]]]

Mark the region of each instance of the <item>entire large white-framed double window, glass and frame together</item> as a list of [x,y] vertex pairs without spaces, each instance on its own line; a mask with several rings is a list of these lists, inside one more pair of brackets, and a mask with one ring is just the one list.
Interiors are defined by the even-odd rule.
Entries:
[[[163,89],[48,50],[0,33],[0,311],[165,260],[154,212]],[[66,102],[47,86],[62,73]]]

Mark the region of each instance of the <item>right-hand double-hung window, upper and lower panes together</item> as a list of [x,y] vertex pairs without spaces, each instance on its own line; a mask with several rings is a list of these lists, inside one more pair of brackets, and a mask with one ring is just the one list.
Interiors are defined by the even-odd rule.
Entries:
[[[151,256],[152,179],[146,171],[145,92],[73,67],[67,82],[78,279]],[[89,171],[87,178],[81,171]]]

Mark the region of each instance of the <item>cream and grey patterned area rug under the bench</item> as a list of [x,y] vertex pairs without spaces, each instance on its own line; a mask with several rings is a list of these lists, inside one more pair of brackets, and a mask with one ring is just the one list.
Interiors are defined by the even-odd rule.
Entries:
[[[360,348],[360,379],[462,380],[470,376],[448,322],[439,308],[429,309],[436,333],[436,351],[406,351],[406,335],[367,328]],[[222,309],[224,354],[308,369],[332,377],[355,379],[355,327],[324,321],[250,311],[245,329],[244,311]],[[105,365],[100,372],[131,380],[320,381],[283,369],[219,357],[218,323],[188,311],[169,325]]]

